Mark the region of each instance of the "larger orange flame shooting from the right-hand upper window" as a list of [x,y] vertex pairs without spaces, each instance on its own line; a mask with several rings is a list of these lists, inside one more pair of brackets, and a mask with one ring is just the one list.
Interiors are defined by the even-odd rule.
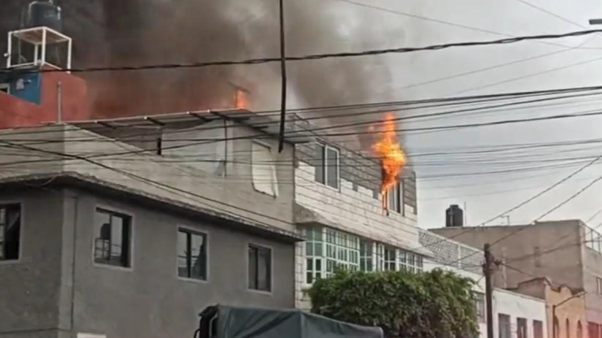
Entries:
[[382,195],[383,207],[386,209],[385,194],[399,181],[399,173],[406,165],[407,158],[397,140],[395,132],[396,123],[391,112],[386,114],[385,124],[383,126],[380,140],[374,143],[372,150],[380,159],[382,167],[382,183],[380,185],[380,195]]

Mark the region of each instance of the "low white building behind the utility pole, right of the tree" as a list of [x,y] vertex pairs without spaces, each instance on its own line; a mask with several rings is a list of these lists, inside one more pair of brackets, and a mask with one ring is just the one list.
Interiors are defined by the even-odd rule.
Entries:
[[[485,278],[482,272],[483,251],[422,229],[420,244],[433,253],[432,257],[424,260],[425,271],[444,269],[476,281],[473,293],[479,322],[479,337],[485,338],[487,326]],[[496,287],[492,298],[494,337],[547,337],[545,302],[542,297],[530,297],[530,295]]]

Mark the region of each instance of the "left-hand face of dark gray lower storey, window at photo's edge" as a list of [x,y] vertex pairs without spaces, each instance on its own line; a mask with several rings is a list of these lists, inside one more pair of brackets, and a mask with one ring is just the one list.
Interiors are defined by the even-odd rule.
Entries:
[[63,195],[42,189],[0,193],[0,203],[16,201],[23,212],[20,259],[0,262],[0,337],[56,338]]

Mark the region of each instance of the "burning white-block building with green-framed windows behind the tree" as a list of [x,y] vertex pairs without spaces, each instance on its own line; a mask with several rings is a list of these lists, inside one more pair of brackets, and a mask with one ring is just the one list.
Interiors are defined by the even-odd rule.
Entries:
[[296,145],[295,223],[306,236],[297,247],[298,307],[309,307],[304,290],[335,266],[423,269],[430,252],[418,242],[415,174],[408,169],[401,176],[385,197],[387,213],[376,161],[323,138]]

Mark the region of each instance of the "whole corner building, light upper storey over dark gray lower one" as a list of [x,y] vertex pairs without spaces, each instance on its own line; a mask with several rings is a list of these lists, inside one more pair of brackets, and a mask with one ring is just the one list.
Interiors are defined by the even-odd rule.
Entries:
[[294,307],[294,147],[261,121],[0,131],[0,337],[188,337],[215,303]]

